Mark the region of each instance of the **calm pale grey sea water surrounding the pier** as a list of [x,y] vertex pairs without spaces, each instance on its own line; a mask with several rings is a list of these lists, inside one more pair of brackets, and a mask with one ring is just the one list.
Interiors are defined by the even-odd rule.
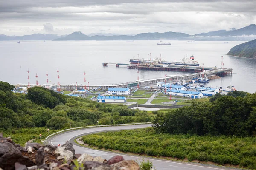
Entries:
[[[241,41],[166,41],[172,45],[157,45],[159,41],[0,41],[0,80],[9,83],[35,84],[36,73],[39,84],[46,84],[46,72],[51,83],[91,85],[128,82],[137,79],[137,70],[116,65],[103,67],[103,62],[129,63],[129,59],[160,57],[167,61],[180,61],[184,56],[194,55],[201,65],[221,67],[221,56],[225,68],[233,68],[233,76],[212,80],[209,86],[235,85],[237,90],[254,93],[256,91],[256,60],[226,56],[227,52]],[[60,79],[57,80],[57,69]],[[182,72],[140,71],[140,79],[151,79]],[[86,82],[86,84],[87,84]]]

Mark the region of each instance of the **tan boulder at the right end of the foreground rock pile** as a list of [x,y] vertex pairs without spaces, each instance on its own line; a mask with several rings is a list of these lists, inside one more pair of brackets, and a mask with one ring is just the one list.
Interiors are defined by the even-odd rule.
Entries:
[[111,170],[140,170],[139,165],[134,160],[120,161],[110,165]]

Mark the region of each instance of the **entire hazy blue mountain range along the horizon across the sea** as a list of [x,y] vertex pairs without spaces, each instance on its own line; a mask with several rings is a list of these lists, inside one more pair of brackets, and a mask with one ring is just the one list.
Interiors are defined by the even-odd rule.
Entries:
[[164,33],[141,33],[137,35],[93,35],[87,36],[81,31],[73,32],[66,36],[58,36],[53,34],[32,34],[24,36],[6,36],[0,35],[0,40],[53,40],[53,41],[69,41],[69,40],[194,40],[194,41],[250,41],[256,38],[256,25],[251,24],[244,28],[232,30],[219,30],[207,33],[189,35],[180,32],[164,32]]

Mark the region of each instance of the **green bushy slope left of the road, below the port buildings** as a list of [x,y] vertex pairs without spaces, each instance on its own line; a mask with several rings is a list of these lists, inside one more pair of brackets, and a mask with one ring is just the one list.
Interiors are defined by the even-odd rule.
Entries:
[[[16,143],[46,137],[53,130],[88,125],[151,122],[146,111],[128,109],[124,105],[100,104],[83,98],[57,94],[33,87],[27,94],[13,93],[13,86],[0,82],[0,132],[12,136]],[[44,134],[44,136],[43,136]]]

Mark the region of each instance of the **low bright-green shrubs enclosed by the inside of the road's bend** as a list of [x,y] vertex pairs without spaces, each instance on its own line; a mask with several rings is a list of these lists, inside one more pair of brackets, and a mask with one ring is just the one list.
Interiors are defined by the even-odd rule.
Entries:
[[235,136],[190,136],[155,133],[152,127],[102,132],[83,136],[83,141],[99,149],[144,153],[189,161],[212,161],[256,169],[256,138]]

